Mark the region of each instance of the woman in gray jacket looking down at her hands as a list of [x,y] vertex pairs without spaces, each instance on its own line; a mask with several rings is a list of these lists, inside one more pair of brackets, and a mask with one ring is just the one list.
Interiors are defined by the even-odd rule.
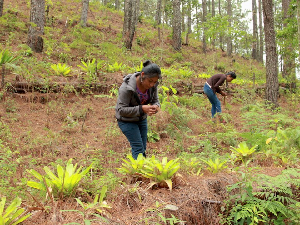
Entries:
[[140,72],[124,77],[115,108],[121,131],[130,142],[133,158],[146,156],[147,116],[158,112],[158,80],[162,80],[157,64],[146,60]]

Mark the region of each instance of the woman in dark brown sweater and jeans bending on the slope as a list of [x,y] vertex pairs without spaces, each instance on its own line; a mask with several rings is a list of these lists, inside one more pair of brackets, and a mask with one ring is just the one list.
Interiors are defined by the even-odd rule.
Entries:
[[[235,73],[230,71],[226,74],[215,74],[207,79],[204,84],[203,91],[207,95],[210,103],[212,104],[212,118],[215,117],[216,113],[221,113],[221,102],[218,99],[216,92],[221,94],[222,96],[228,95],[226,92],[223,92],[220,89],[220,86],[226,80],[226,87],[228,82],[231,82],[233,79],[237,78]],[[224,122],[224,121],[221,121]]]

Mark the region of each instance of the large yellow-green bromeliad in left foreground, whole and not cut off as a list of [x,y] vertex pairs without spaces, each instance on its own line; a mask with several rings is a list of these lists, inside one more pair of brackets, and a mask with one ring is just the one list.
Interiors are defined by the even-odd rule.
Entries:
[[33,169],[26,169],[28,173],[39,180],[39,182],[28,181],[27,185],[41,190],[46,195],[49,194],[49,192],[52,192],[53,197],[58,199],[62,199],[63,197],[74,197],[81,178],[88,173],[92,168],[93,163],[88,166],[88,168],[81,171],[83,167],[80,166],[76,170],[78,164],[76,163],[73,165],[71,163],[72,160],[73,159],[68,160],[65,168],[59,164],[57,165],[58,176],[56,176],[49,167],[45,166],[44,171],[48,175],[48,178]]

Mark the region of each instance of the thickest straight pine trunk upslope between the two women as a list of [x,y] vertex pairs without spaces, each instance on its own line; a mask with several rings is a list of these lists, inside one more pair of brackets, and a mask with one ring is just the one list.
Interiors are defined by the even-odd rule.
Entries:
[[179,51],[181,47],[180,0],[173,0],[173,48]]

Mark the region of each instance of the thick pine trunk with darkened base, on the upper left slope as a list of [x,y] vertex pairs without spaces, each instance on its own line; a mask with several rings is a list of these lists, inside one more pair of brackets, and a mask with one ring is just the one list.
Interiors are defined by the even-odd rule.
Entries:
[[36,26],[29,27],[27,44],[34,52],[42,52],[44,40],[45,24],[45,0],[31,0],[30,3],[30,22]]

